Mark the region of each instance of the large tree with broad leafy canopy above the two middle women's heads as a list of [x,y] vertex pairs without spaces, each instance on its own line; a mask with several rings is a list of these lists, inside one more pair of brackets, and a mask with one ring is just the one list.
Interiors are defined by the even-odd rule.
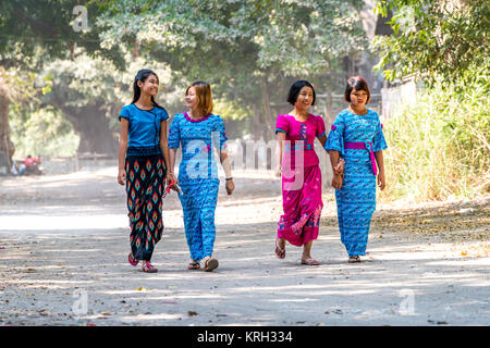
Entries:
[[105,47],[123,44],[170,64],[175,83],[207,79],[218,96],[250,105],[255,135],[273,134],[270,103],[284,100],[294,78],[324,76],[366,46],[358,0],[99,3]]

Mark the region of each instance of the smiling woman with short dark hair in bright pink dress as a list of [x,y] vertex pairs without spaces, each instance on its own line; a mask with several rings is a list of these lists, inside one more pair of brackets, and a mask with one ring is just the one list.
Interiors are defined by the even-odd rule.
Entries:
[[[313,241],[318,238],[321,209],[321,172],[319,159],[314,149],[317,137],[321,146],[327,140],[324,122],[319,115],[308,113],[315,104],[314,86],[306,80],[297,80],[291,86],[287,101],[294,105],[289,114],[278,116],[275,135],[282,176],[282,199],[284,214],[278,223],[275,254],[285,258],[286,240],[294,246],[303,246],[302,264],[318,265],[311,258]],[[334,169],[342,173],[343,162]]]

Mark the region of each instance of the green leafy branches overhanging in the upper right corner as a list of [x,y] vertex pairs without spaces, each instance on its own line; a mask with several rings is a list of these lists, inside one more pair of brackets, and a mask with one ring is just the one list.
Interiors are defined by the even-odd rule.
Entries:
[[377,11],[394,15],[394,33],[378,37],[377,70],[393,80],[414,74],[428,84],[454,84],[458,88],[489,70],[490,2],[488,0],[391,0],[379,1]]

